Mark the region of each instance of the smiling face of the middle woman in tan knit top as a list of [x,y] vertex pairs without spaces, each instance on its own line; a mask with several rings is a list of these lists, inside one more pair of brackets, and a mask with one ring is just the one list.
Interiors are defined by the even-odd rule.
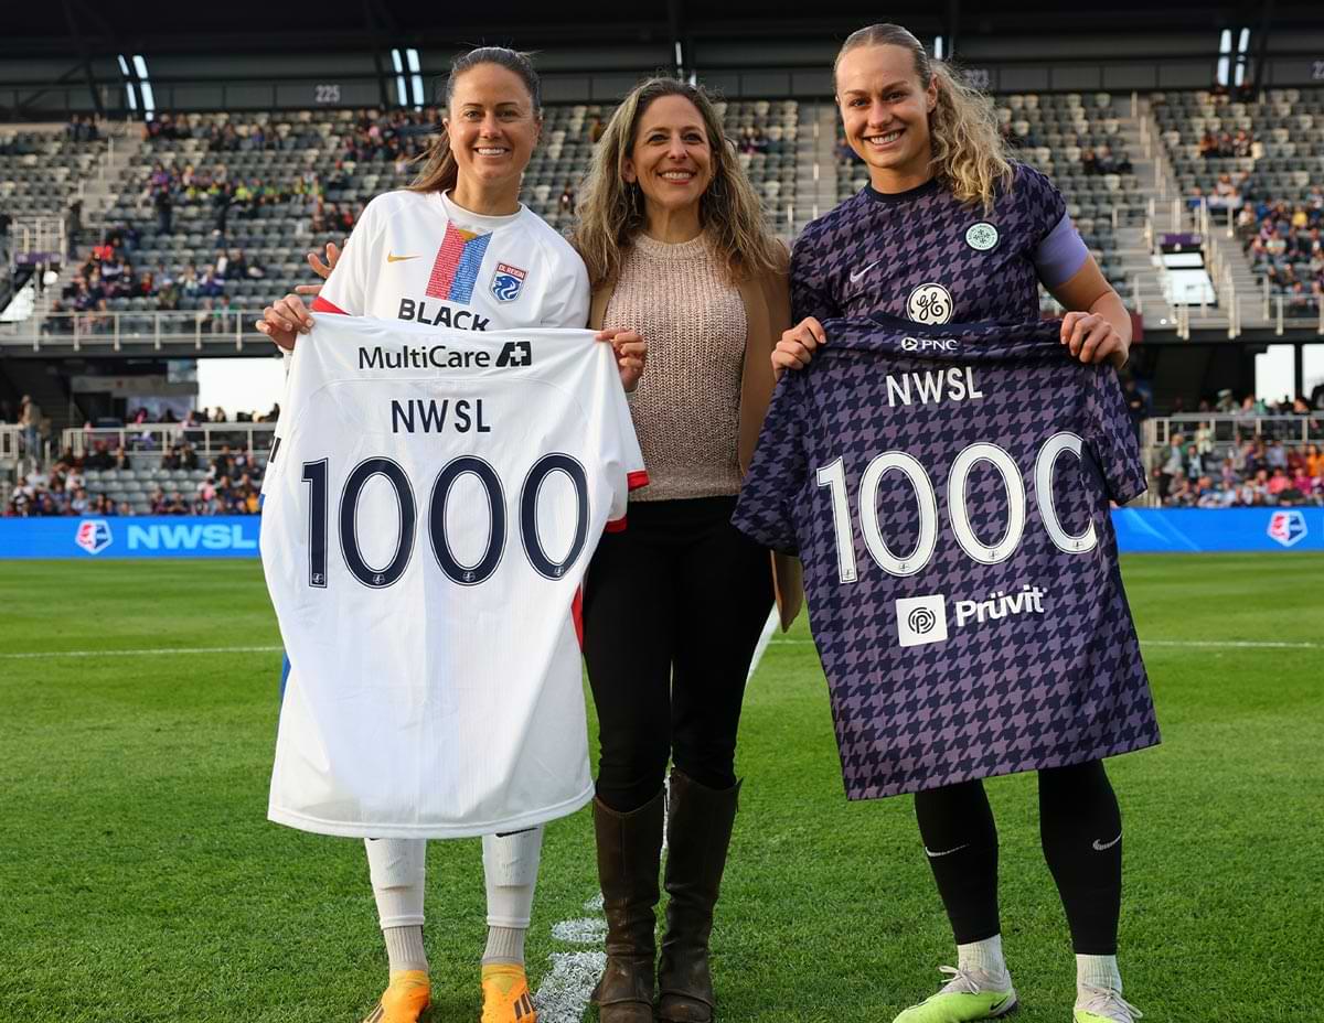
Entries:
[[622,173],[626,181],[638,183],[645,204],[654,209],[696,209],[712,181],[712,143],[699,109],[683,95],[649,103]]

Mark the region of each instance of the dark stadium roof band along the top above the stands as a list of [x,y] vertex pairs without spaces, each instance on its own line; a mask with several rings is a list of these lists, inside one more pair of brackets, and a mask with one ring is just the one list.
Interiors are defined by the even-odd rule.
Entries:
[[[605,15],[605,17],[604,17]],[[1311,0],[1113,0],[1103,7],[1068,5],[1058,0],[997,0],[969,3],[899,0],[874,3],[802,3],[767,0],[667,0],[647,15],[622,17],[621,8],[602,3],[560,0],[555,4],[504,0],[465,8],[454,3],[413,0],[320,0],[273,4],[228,0],[217,8],[177,0],[136,0],[98,4],[58,0],[12,5],[0,24],[0,57],[122,52],[246,52],[289,50],[291,45],[361,49],[365,42],[405,40],[449,42],[457,49],[518,38],[520,46],[657,41],[686,36],[837,37],[871,21],[891,20],[916,34],[947,33],[959,40],[980,36],[1125,32],[1144,46],[1149,32],[1201,32],[1230,25],[1262,33],[1303,28],[1324,29],[1324,16]],[[957,44],[959,46],[959,44]]]

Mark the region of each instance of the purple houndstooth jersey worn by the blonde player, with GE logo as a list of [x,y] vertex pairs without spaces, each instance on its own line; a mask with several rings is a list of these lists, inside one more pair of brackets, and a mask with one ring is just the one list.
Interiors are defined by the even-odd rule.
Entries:
[[895,195],[866,187],[813,221],[792,258],[793,319],[1037,319],[1038,282],[1070,279],[1088,251],[1053,183],[1030,167],[1014,169],[990,210],[959,202],[932,179]]

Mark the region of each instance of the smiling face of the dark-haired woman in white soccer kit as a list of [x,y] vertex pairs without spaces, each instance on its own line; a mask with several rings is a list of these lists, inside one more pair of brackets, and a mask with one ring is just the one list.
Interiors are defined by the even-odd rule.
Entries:
[[444,123],[462,183],[467,179],[485,191],[503,184],[519,189],[542,118],[518,74],[495,64],[463,71]]

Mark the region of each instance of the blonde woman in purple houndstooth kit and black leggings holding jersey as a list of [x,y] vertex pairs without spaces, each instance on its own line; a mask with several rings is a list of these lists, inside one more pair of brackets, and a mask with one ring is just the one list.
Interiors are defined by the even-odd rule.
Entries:
[[[1038,171],[1013,164],[986,99],[910,32],[871,25],[834,67],[846,142],[870,184],[810,224],[792,261],[797,326],[773,352],[780,375],[829,344],[822,322],[874,312],[911,320],[1033,322],[1042,283],[1063,307],[1062,344],[1121,365],[1131,318]],[[1121,998],[1117,916],[1121,817],[1102,761],[1045,766],[1039,821],[1076,953],[1076,1023],[1132,1023]],[[920,836],[957,942],[952,979],[896,1023],[956,1023],[1016,1006],[1002,957],[997,828],[981,781],[920,791]]]

